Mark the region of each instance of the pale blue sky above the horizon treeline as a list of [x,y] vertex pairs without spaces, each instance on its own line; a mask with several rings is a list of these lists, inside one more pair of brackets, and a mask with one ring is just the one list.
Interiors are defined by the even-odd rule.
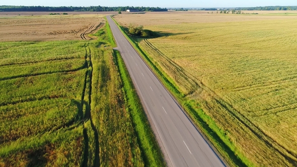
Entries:
[[1,0],[1,5],[14,6],[134,6],[161,8],[210,8],[210,7],[259,7],[259,6],[297,6],[296,0]]

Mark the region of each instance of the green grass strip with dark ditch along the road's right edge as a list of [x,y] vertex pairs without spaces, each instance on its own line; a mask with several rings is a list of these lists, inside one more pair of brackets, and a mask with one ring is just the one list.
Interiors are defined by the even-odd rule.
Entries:
[[[112,18],[113,19],[113,18]],[[114,19],[113,19],[114,20]],[[115,21],[115,20],[114,20]],[[193,122],[198,126],[199,130],[206,136],[211,144],[216,148],[224,160],[231,166],[254,166],[254,164],[242,154],[236,146],[226,136],[225,131],[220,129],[215,121],[213,121],[202,109],[196,109],[199,106],[197,103],[188,100],[180,91],[174,81],[164,72],[161,71],[158,63],[154,63],[145,51],[141,50],[138,44],[126,34],[124,28],[116,21],[120,31],[124,34],[126,39],[143,58],[143,60],[150,66],[157,77],[161,80],[163,85],[170,91],[170,93],[181,104],[182,108],[189,114]]]

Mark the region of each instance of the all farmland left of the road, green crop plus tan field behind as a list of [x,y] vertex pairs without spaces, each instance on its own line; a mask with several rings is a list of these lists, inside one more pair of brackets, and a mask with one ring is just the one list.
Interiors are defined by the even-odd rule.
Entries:
[[1,37],[7,42],[0,43],[0,166],[164,166],[104,18],[48,17],[1,20],[36,22],[29,31],[44,26],[42,19],[60,22],[63,31],[67,21],[90,23],[73,26],[73,37],[42,37],[54,29]]

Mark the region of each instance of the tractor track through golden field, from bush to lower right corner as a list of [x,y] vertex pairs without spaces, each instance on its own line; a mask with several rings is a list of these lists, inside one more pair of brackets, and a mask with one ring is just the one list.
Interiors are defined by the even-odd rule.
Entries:
[[262,140],[267,146],[272,147],[276,152],[282,155],[285,159],[287,159],[293,165],[297,165],[297,155],[292,151],[288,150],[281,144],[279,144],[276,140],[269,137],[264,133],[259,127],[257,127],[254,123],[252,123],[246,116],[242,115],[239,111],[234,109],[232,105],[228,102],[222,100],[213,90],[208,88],[203,82],[188,72],[184,71],[182,67],[173,62],[169,57],[167,57],[164,53],[162,53],[158,48],[156,48],[152,43],[144,40],[145,43],[150,46],[153,50],[155,50],[160,56],[165,58],[170,64],[174,65],[180,72],[182,72],[185,76],[187,76],[191,81],[195,82],[200,88],[204,91],[208,92],[212,98],[219,104],[221,107],[225,108],[232,116],[234,116],[239,122],[241,122],[245,127],[247,127],[255,136],[257,136],[260,140]]

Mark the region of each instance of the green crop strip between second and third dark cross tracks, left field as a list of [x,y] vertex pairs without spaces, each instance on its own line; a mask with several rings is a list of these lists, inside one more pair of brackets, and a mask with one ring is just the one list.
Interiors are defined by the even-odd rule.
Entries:
[[[0,81],[0,105],[51,98],[81,97],[86,69]],[[57,84],[59,83],[59,84]]]

